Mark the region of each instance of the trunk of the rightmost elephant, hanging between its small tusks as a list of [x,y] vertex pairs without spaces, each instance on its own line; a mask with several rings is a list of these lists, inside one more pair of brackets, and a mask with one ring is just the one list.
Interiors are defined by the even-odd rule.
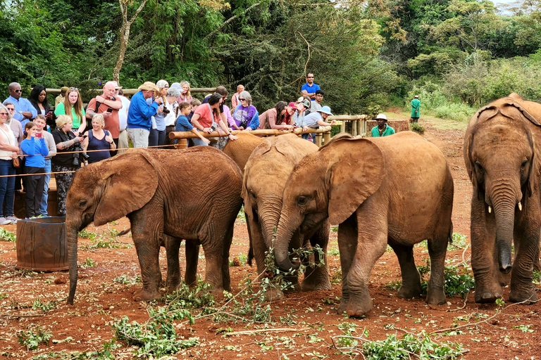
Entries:
[[498,249],[499,271],[511,271],[511,244],[515,221],[515,196],[502,191],[492,197],[496,219],[496,246]]

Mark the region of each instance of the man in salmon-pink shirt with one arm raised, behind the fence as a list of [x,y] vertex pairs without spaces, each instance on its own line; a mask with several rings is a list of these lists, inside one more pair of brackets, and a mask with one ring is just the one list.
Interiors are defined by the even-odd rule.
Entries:
[[[93,98],[87,106],[87,118],[92,119],[94,115],[104,115],[105,126],[104,130],[109,131],[113,136],[113,141],[118,148],[118,137],[120,136],[120,118],[118,110],[122,108],[122,101],[115,97],[116,82],[106,82],[104,86],[104,94]],[[116,155],[116,150],[111,151],[111,156]]]

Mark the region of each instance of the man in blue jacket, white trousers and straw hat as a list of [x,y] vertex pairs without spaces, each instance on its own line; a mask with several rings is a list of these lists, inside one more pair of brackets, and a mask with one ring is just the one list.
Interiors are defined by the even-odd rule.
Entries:
[[152,128],[152,117],[158,113],[161,97],[156,96],[151,105],[147,104],[147,98],[159,94],[160,89],[154,82],[145,82],[138,89],[140,91],[132,96],[128,111],[128,135],[135,148],[147,148]]

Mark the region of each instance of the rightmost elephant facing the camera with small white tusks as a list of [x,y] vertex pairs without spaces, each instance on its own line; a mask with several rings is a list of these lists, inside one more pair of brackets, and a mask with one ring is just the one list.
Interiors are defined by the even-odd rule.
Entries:
[[540,120],[540,104],[511,94],[480,109],[468,124],[464,161],[473,184],[475,302],[502,297],[501,285],[511,268],[509,300],[537,301],[532,281],[541,230]]

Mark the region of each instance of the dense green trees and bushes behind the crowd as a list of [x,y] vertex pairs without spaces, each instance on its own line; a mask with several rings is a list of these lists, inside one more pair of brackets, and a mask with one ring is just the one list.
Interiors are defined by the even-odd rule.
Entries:
[[[130,14],[141,0],[125,1]],[[464,120],[511,92],[541,101],[540,1],[502,15],[487,0],[149,0],[132,24],[123,86],[244,84],[260,109],[299,96],[307,72],[335,113],[408,108]],[[0,89],[83,91],[111,79],[114,0],[14,0],[0,11]],[[52,99],[50,99],[52,100]]]

